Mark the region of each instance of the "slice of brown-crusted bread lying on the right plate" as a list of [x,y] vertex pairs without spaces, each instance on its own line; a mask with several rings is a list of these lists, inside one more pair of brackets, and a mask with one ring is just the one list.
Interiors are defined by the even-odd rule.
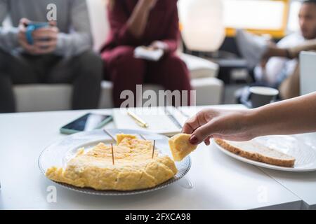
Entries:
[[268,163],[279,167],[294,167],[295,158],[281,153],[273,148],[268,148],[256,141],[226,141],[215,139],[216,143],[231,153],[249,160]]

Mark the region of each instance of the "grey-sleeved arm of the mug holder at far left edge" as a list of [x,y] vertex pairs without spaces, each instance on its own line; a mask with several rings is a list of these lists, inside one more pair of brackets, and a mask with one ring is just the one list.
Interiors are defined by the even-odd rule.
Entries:
[[[0,25],[8,15],[8,0],[0,0]],[[0,26],[0,48],[10,51],[19,46],[18,27],[4,28]]]

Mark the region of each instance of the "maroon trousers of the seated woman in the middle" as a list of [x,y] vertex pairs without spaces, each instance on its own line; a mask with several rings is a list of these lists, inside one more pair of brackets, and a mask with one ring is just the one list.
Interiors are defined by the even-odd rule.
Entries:
[[[105,80],[113,82],[114,106],[119,107],[125,99],[121,92],[131,90],[136,95],[136,85],[154,83],[165,90],[187,90],[190,99],[190,74],[185,62],[175,54],[164,55],[159,62],[148,62],[134,57],[134,48],[119,46],[102,53],[105,62]],[[190,102],[188,102],[190,105]]]

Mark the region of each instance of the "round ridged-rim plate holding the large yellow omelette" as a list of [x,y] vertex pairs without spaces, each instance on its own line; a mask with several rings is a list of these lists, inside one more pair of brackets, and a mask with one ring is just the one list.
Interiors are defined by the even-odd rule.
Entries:
[[[159,153],[169,155],[172,158],[171,151],[169,150],[169,144],[168,144],[168,138],[161,135],[161,134],[152,134],[150,132],[144,132],[139,130],[107,130],[110,134],[112,134],[113,137],[115,137],[118,133],[124,133],[124,134],[141,134],[145,139],[147,140],[156,140],[155,147],[159,149]],[[139,135],[139,138],[140,135]],[[95,130],[91,132],[81,132],[78,134],[72,134],[68,137],[65,137],[65,139],[62,139],[61,141],[58,141],[54,144],[51,144],[47,148],[44,149],[44,151],[39,156],[39,169],[41,172],[45,175],[46,170],[49,167],[66,167],[67,162],[73,158],[77,150],[79,148],[84,147],[85,151],[90,150],[94,146],[96,146],[98,143],[103,142],[105,144],[111,144],[114,143],[113,139],[105,134],[103,130]],[[136,195],[140,193],[147,193],[152,190],[158,190],[161,188],[165,188],[166,186],[169,186],[171,183],[174,183],[190,170],[191,167],[191,160],[190,157],[187,156],[183,161],[181,162],[175,162],[176,167],[178,169],[178,174],[173,177],[173,179],[170,179],[169,181],[166,181],[159,186],[156,186],[154,188],[148,188],[144,190],[130,190],[130,191],[116,191],[116,190],[94,190],[92,188],[77,188],[75,186],[70,186],[65,183],[58,183],[60,186],[63,186],[65,188],[68,188],[70,190],[78,191],[81,193],[91,194],[91,195]]]

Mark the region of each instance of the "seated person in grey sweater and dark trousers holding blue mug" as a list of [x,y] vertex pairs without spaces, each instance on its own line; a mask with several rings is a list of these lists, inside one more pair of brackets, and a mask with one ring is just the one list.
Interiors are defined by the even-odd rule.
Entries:
[[[52,2],[57,20],[35,30],[30,45],[27,25],[47,22]],[[13,27],[0,27],[0,112],[16,110],[13,85],[31,83],[70,83],[72,109],[97,108],[103,62],[92,51],[86,1],[0,0],[0,23],[6,16]]]

